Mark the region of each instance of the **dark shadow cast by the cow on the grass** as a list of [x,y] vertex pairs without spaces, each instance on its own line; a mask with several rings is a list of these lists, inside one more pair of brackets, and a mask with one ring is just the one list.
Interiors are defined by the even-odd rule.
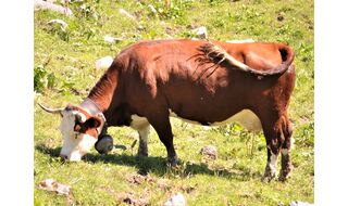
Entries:
[[[36,149],[44,153],[48,154],[52,157],[58,157],[61,147],[47,147],[44,144],[37,145]],[[87,163],[108,163],[108,164],[116,164],[124,166],[132,166],[138,169],[138,173],[147,175],[148,172],[156,173],[159,177],[162,176],[179,176],[185,178],[187,176],[192,175],[210,175],[217,176],[224,178],[231,178],[236,180],[250,180],[253,178],[261,178],[260,172],[252,172],[249,168],[239,167],[239,169],[227,170],[227,169],[214,169],[210,168],[207,164],[200,163],[183,163],[181,162],[176,167],[169,167],[166,165],[166,158],[163,157],[138,157],[138,156],[129,156],[126,154],[87,154],[83,157],[83,160]]]

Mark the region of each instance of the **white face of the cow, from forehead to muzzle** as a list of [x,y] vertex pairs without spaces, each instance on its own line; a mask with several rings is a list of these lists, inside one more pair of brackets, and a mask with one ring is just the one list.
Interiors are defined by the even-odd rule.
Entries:
[[[97,142],[97,138],[87,133],[78,133],[74,131],[77,111],[63,111],[60,130],[63,134],[63,147],[60,155],[65,156],[66,160],[78,162],[90,151]],[[78,113],[82,119],[86,120],[85,115]]]

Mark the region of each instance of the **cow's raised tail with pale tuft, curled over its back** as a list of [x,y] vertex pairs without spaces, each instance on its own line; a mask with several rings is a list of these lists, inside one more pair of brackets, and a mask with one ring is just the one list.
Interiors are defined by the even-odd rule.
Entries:
[[212,61],[216,62],[217,64],[221,64],[222,62],[225,62],[227,64],[231,64],[234,67],[237,67],[244,72],[257,75],[257,76],[274,76],[274,75],[282,75],[284,74],[289,66],[291,65],[294,61],[294,51],[290,47],[278,43],[278,51],[282,55],[282,64],[276,66],[275,68],[268,69],[268,70],[258,70],[254,68],[249,67],[248,65],[244,64],[243,62],[239,62],[232,55],[229,55],[224,49],[221,47],[213,44],[213,43],[206,43],[200,48],[200,51],[206,53],[208,57],[210,57]]

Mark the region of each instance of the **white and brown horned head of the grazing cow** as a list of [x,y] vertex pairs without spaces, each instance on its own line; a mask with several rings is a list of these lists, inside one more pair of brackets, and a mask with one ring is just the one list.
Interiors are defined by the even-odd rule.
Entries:
[[69,105],[65,108],[48,108],[41,104],[39,105],[46,112],[60,114],[62,117],[60,130],[63,134],[63,147],[60,156],[65,160],[80,160],[97,142],[104,124],[103,118],[92,116],[78,106]]

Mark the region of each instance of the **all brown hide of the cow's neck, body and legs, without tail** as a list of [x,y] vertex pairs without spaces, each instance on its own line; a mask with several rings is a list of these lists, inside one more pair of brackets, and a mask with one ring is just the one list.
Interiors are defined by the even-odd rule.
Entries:
[[[284,73],[260,78],[228,62],[201,63],[199,48],[204,43],[183,39],[129,46],[115,57],[88,98],[104,113],[109,126],[129,126],[132,114],[146,117],[165,144],[169,157],[175,156],[170,110],[202,125],[251,110],[261,120],[270,163],[271,154],[290,149],[287,107],[295,86],[291,49],[282,43],[212,42],[260,72],[272,70],[288,61]],[[288,53],[284,54],[284,50]],[[289,155],[283,162],[282,173],[286,177],[290,170]],[[266,172],[268,167],[265,176],[270,176]]]

